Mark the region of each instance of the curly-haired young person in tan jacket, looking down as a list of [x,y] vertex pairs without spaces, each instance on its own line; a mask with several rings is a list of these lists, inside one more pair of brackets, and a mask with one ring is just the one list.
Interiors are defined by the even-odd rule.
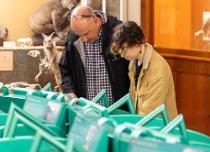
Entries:
[[114,29],[112,52],[130,61],[130,94],[138,114],[165,104],[169,118],[177,115],[174,82],[167,61],[145,43],[140,26],[127,21]]

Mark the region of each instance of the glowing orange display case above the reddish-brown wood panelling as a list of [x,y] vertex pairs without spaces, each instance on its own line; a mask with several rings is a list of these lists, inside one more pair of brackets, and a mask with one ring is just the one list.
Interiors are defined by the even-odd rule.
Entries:
[[210,1],[154,1],[154,44],[210,50]]

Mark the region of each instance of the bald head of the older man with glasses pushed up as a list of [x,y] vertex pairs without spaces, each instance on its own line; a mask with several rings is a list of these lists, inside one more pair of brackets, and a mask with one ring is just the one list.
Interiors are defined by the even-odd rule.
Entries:
[[94,41],[101,28],[101,19],[87,6],[76,7],[71,14],[71,30],[84,42]]

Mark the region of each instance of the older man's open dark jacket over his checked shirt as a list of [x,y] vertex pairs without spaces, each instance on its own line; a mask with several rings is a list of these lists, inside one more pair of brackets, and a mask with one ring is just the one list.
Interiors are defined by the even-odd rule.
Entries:
[[[115,101],[128,93],[130,85],[128,77],[129,62],[120,56],[114,56],[110,53],[113,28],[120,23],[121,21],[117,20],[117,18],[109,16],[107,17],[107,22],[102,24],[102,55]],[[79,37],[73,32],[68,33],[65,51],[61,57],[59,68],[62,75],[63,92],[74,92],[78,97],[86,97],[84,53],[81,52],[79,46],[76,46],[76,42],[79,40]]]

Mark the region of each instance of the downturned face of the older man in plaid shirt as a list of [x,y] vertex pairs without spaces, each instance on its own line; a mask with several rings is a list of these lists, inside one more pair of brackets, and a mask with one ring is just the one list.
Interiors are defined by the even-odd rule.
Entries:
[[98,37],[98,29],[93,18],[73,21],[71,28],[83,42],[92,42]]

